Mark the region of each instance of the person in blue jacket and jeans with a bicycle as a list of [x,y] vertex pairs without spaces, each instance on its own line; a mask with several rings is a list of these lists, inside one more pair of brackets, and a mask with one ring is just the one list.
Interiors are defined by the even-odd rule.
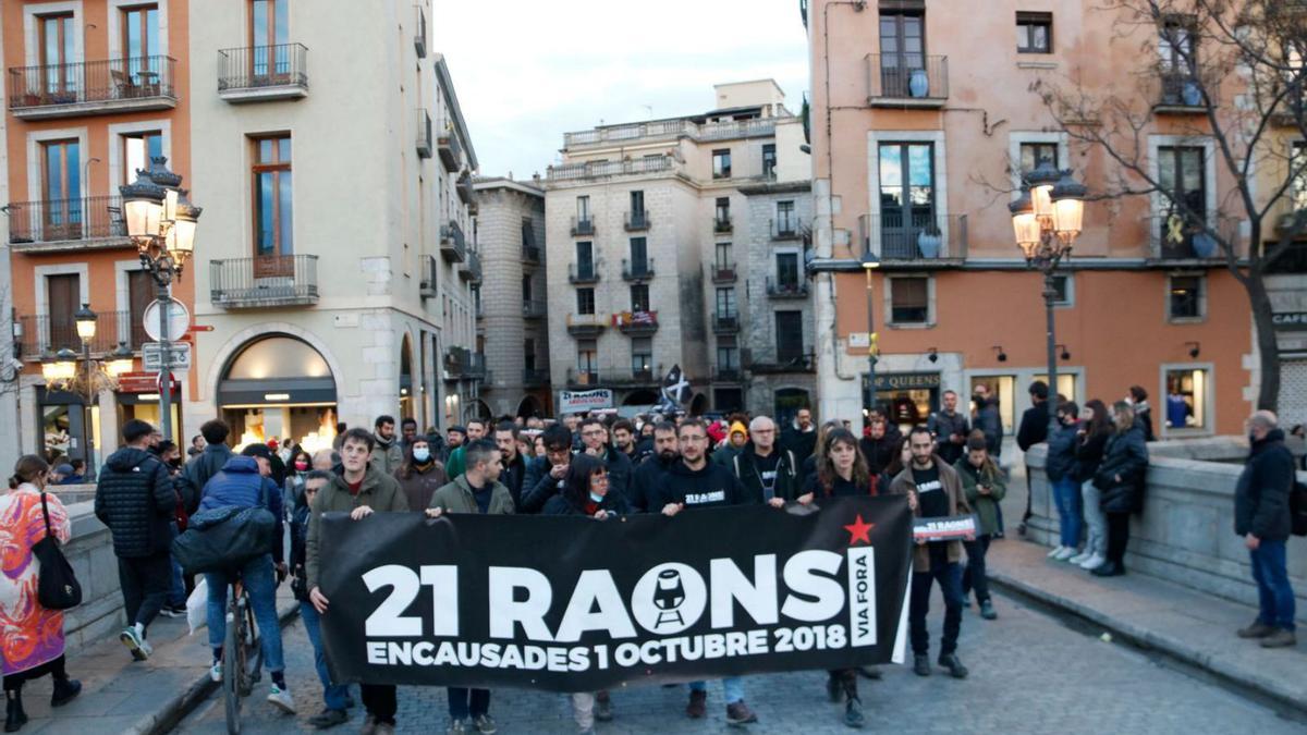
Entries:
[[[264,443],[251,443],[233,456],[204,485],[200,498],[200,513],[222,507],[263,507],[276,522],[276,536],[269,553],[261,553],[244,561],[238,568],[222,572],[208,572],[204,579],[209,586],[209,646],[213,649],[213,666],[209,677],[222,681],[222,643],[227,633],[227,585],[240,582],[250,592],[250,607],[259,625],[259,645],[263,649],[263,664],[272,677],[268,702],[277,709],[295,714],[295,702],[286,688],[286,664],[281,651],[281,621],[277,617],[277,585],[286,578],[286,564],[282,558],[282,519],[281,488],[272,480],[272,450]],[[239,517],[227,521],[238,522]],[[273,573],[276,572],[276,577]]]

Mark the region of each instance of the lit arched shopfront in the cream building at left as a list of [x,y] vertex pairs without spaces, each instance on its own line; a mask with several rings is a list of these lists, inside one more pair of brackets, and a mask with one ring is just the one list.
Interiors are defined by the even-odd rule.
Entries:
[[218,381],[218,413],[239,445],[271,438],[308,451],[336,437],[336,379],[316,349],[288,335],[264,335],[238,349]]

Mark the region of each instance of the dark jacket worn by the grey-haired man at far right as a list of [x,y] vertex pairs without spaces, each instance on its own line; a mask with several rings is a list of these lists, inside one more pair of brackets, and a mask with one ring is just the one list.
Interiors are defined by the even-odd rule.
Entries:
[[1272,429],[1252,442],[1248,463],[1234,490],[1234,532],[1268,541],[1289,538],[1289,489],[1294,485],[1294,456],[1285,447],[1285,432]]

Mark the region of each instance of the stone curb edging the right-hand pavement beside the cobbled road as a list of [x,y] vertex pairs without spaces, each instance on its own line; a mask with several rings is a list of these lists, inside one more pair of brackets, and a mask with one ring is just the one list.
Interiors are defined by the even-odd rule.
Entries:
[[1102,626],[1112,636],[1120,637],[1137,647],[1159,651],[1175,660],[1197,667],[1226,684],[1255,692],[1299,714],[1307,714],[1307,701],[1300,698],[1299,692],[1283,687],[1276,679],[1261,676],[1253,670],[1213,657],[1179,638],[1119,620],[1098,608],[1042,590],[996,569],[991,569],[988,577],[989,582],[1004,591],[1055,607],[1065,613]]

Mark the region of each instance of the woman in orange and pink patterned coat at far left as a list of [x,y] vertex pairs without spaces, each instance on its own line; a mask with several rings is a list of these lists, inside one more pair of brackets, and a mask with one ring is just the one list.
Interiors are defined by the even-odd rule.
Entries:
[[22,685],[47,674],[55,679],[50,706],[61,706],[81,692],[81,683],[64,670],[64,613],[46,609],[37,599],[41,562],[31,548],[54,534],[68,543],[72,526],[59,497],[46,493],[50,466],[34,454],[14,464],[9,493],[0,496],[0,620],[4,621],[3,666],[5,732],[26,722]]

